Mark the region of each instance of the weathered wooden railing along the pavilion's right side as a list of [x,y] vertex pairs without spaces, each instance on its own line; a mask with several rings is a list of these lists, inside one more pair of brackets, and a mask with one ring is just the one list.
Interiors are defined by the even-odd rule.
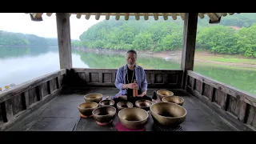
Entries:
[[190,70],[186,76],[186,90],[235,126],[255,130],[256,98],[251,94]]

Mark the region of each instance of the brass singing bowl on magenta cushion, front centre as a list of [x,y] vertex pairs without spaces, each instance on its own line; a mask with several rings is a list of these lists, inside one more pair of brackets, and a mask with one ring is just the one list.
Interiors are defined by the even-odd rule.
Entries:
[[138,107],[124,108],[118,112],[118,118],[122,126],[131,130],[142,129],[149,118],[146,110]]

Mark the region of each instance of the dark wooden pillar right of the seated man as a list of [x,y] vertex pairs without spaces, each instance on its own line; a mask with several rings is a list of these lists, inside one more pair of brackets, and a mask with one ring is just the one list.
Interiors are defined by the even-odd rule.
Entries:
[[185,89],[187,70],[194,68],[194,50],[198,26],[198,13],[186,13],[182,49],[182,89]]

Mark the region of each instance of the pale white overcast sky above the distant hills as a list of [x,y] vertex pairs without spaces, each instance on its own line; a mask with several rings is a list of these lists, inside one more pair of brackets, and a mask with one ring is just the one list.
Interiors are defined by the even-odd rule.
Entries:
[[[0,18],[0,30],[35,34],[45,38],[57,38],[55,14],[52,14],[50,17],[46,13],[42,14],[42,22],[31,21],[30,15],[25,13],[0,13]],[[76,15],[72,14],[70,16],[71,39],[79,39],[80,34],[104,19],[105,17],[102,16],[99,20],[95,20],[94,15],[89,20],[86,20],[84,15],[78,19]]]

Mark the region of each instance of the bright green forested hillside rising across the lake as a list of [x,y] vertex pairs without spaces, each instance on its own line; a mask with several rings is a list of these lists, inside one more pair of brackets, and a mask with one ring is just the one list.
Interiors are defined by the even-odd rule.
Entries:
[[[198,18],[197,49],[218,54],[242,54],[256,57],[256,14],[234,14],[222,17],[219,24],[209,24],[209,18]],[[129,21],[115,18],[98,22],[80,35],[74,47],[112,50],[178,50],[182,48],[181,18],[163,20],[149,18]]]

